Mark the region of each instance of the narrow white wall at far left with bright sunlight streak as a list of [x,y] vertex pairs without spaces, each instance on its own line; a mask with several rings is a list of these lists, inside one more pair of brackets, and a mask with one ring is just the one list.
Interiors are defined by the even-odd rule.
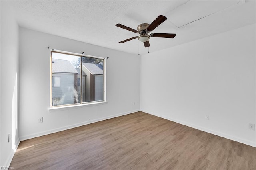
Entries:
[[[8,166],[19,142],[18,74],[19,31],[13,11],[1,1],[1,66],[0,66],[0,166]],[[11,135],[8,143],[8,134]]]

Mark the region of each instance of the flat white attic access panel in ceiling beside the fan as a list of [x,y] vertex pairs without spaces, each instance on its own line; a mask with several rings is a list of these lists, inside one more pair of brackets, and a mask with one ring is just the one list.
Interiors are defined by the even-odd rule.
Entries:
[[184,25],[210,16],[216,12],[225,10],[231,6],[244,3],[245,0],[190,0],[168,12],[165,14],[165,16],[169,21],[176,25],[176,27],[180,28]]

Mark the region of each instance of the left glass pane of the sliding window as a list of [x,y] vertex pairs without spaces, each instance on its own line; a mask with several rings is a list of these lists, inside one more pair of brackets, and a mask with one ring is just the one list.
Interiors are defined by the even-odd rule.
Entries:
[[52,52],[52,106],[80,103],[81,57]]

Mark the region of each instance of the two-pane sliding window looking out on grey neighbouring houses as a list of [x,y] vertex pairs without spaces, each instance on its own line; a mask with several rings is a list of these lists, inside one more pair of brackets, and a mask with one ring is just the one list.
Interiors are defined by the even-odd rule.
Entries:
[[51,51],[51,107],[104,101],[104,58]]

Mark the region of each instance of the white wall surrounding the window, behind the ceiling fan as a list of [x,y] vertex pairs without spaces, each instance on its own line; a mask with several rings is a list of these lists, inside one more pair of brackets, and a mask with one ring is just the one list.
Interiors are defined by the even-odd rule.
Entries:
[[[107,104],[48,111],[50,50],[107,59]],[[134,105],[135,102],[135,105]],[[60,131],[140,110],[140,57],[20,28],[20,139]],[[38,117],[44,117],[38,123]]]

